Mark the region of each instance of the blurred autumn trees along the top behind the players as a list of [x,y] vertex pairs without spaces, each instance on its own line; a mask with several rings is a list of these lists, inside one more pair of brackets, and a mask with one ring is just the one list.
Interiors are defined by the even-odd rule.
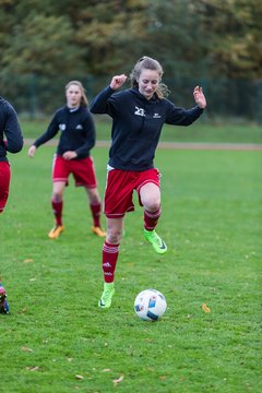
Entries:
[[0,0],[0,78],[129,72],[261,79],[258,0]]

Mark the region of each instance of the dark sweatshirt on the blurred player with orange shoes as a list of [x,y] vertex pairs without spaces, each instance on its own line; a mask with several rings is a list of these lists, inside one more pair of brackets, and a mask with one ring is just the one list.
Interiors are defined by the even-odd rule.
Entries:
[[62,156],[64,152],[73,151],[78,154],[74,159],[90,156],[90,151],[95,145],[95,124],[86,107],[81,106],[76,110],[68,106],[59,108],[47,131],[34,142],[34,145],[36,147],[40,146],[52,139],[59,131],[58,155]]

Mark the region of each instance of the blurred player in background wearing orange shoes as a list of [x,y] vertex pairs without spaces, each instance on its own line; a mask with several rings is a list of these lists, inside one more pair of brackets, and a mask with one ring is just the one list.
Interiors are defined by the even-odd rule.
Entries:
[[66,86],[66,98],[67,105],[56,111],[47,131],[28,150],[28,156],[33,157],[37,147],[60,132],[52,165],[51,206],[56,224],[48,237],[56,239],[64,230],[62,222],[63,191],[68,186],[70,174],[74,177],[75,186],[84,187],[87,192],[93,217],[92,231],[97,236],[105,237],[106,233],[100,227],[100,196],[91,156],[91,150],[95,145],[95,124],[87,108],[88,102],[82,83],[69,82]]

